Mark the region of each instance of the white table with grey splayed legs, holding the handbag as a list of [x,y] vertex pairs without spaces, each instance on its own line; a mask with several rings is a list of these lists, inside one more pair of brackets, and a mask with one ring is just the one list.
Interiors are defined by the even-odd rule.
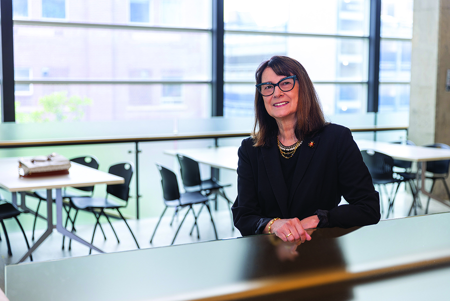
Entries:
[[[24,178],[18,175],[18,159],[17,158],[2,158],[0,159],[0,187],[11,192],[12,203],[17,205],[17,192],[21,195],[20,207],[23,210],[32,212],[25,205],[25,192],[35,189],[47,190],[47,229],[42,236],[33,244],[28,252],[18,261],[22,262],[26,259],[47,237],[53,232],[53,229],[63,235],[74,239],[89,248],[103,253],[100,249],[93,246],[89,242],[78,237],[71,231],[68,231],[62,226],[62,194],[61,188],[92,186],[95,184],[122,184],[123,178],[86,167],[77,163],[71,162],[69,173],[65,175],[54,176],[40,176]],[[51,189],[56,189],[56,225],[53,224],[52,214],[52,198]]]

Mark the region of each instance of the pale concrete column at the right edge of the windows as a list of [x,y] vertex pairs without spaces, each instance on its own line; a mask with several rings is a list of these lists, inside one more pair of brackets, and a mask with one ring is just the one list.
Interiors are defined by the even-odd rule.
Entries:
[[[408,139],[450,145],[450,0],[414,0],[412,32]],[[435,192],[448,198],[440,183]]]

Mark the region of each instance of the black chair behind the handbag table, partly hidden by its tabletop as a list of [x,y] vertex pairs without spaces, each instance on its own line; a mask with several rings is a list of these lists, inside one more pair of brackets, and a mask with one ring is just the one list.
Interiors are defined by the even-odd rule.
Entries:
[[[98,165],[99,165],[98,159],[94,156],[77,157],[77,158],[70,159],[70,161],[84,165],[84,166],[88,166],[88,167],[91,167],[94,169],[98,169]],[[76,187],[76,189],[84,191],[84,192],[90,192],[90,193],[86,194],[86,195],[80,195],[80,194],[75,194],[75,193],[71,192],[70,190],[63,189],[62,190],[62,198],[64,199],[64,198],[79,197],[79,196],[92,196],[94,186]],[[36,191],[32,191],[32,192],[27,192],[26,195],[35,197],[39,200],[39,202],[37,203],[36,215],[34,216],[33,232],[31,235],[31,239],[34,240],[34,230],[36,227],[37,212],[39,212],[40,203],[42,201],[47,200],[47,191],[46,190],[36,190]],[[51,191],[51,198],[52,198],[53,202],[56,200],[56,191],[54,189]],[[69,215],[69,211],[68,211],[69,209],[67,209],[66,206],[64,206],[64,209],[66,210],[66,213],[67,213],[67,219],[65,220],[65,226],[67,227],[67,222],[68,222],[70,215]],[[64,244],[63,244],[63,246],[64,246]]]

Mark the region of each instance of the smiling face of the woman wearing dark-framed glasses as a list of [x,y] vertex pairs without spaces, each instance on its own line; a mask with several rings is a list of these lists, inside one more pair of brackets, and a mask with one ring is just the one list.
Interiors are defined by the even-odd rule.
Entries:
[[[276,84],[283,78],[290,76],[276,75],[272,68],[266,68],[262,72],[261,82]],[[270,96],[263,96],[264,106],[267,113],[275,118],[277,122],[296,121],[297,103],[298,103],[298,83],[290,91],[283,92],[279,87],[275,87],[275,91]]]

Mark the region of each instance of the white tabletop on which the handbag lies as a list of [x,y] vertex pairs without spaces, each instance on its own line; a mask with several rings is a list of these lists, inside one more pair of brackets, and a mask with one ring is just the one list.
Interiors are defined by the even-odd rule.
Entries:
[[0,170],[0,187],[9,192],[123,183],[121,177],[74,162],[71,162],[69,173],[65,175],[20,177],[18,174],[18,158],[0,159]]

